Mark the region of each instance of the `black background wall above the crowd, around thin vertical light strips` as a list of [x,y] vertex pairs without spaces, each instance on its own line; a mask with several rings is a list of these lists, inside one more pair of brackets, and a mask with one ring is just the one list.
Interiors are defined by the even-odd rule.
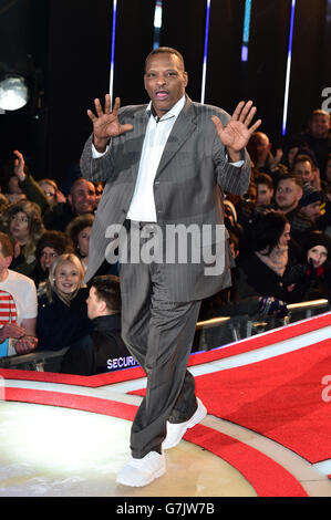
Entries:
[[[122,104],[147,102],[144,61],[153,46],[154,0],[118,0],[114,95]],[[254,0],[248,62],[241,62],[244,0],[211,0],[205,102],[232,112],[252,98],[261,129],[282,142],[282,110],[291,0]],[[0,73],[21,67],[34,96],[0,114],[0,158],[13,148],[35,177],[65,179],[91,132],[86,108],[110,85],[112,0],[0,0]],[[164,0],[159,43],[178,49],[189,74],[188,95],[200,101],[205,0]],[[331,13],[328,0],[297,0],[288,134],[304,128],[331,86]],[[29,75],[28,74],[28,75]]]

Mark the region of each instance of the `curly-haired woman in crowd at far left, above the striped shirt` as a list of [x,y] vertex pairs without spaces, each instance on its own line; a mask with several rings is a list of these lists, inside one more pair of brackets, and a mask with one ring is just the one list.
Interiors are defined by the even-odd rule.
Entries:
[[30,277],[37,266],[37,245],[44,233],[39,206],[30,200],[10,205],[1,216],[1,228],[14,243],[10,269]]

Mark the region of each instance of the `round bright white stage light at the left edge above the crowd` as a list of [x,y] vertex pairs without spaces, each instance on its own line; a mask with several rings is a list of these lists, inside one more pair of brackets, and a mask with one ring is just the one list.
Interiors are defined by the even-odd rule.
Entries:
[[25,106],[28,101],[29,89],[24,77],[13,74],[0,81],[0,108],[18,111]]

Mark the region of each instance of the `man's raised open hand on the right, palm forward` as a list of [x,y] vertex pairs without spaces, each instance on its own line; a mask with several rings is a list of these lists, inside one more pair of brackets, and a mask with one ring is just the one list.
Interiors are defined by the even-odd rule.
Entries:
[[241,150],[246,147],[250,136],[260,126],[261,119],[258,119],[252,126],[249,126],[255,114],[256,106],[252,101],[241,101],[238,103],[228,124],[224,126],[220,119],[213,115],[211,119],[216,126],[219,139],[226,146],[229,160],[236,163],[241,158]]

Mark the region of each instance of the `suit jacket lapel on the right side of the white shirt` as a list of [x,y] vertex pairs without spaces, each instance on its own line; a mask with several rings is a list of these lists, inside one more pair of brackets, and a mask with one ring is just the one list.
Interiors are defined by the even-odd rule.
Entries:
[[190,137],[195,128],[195,111],[192,101],[187,97],[186,105],[178,115],[164,148],[155,178],[162,174],[169,160],[172,160],[174,155],[177,154],[184,143]]

